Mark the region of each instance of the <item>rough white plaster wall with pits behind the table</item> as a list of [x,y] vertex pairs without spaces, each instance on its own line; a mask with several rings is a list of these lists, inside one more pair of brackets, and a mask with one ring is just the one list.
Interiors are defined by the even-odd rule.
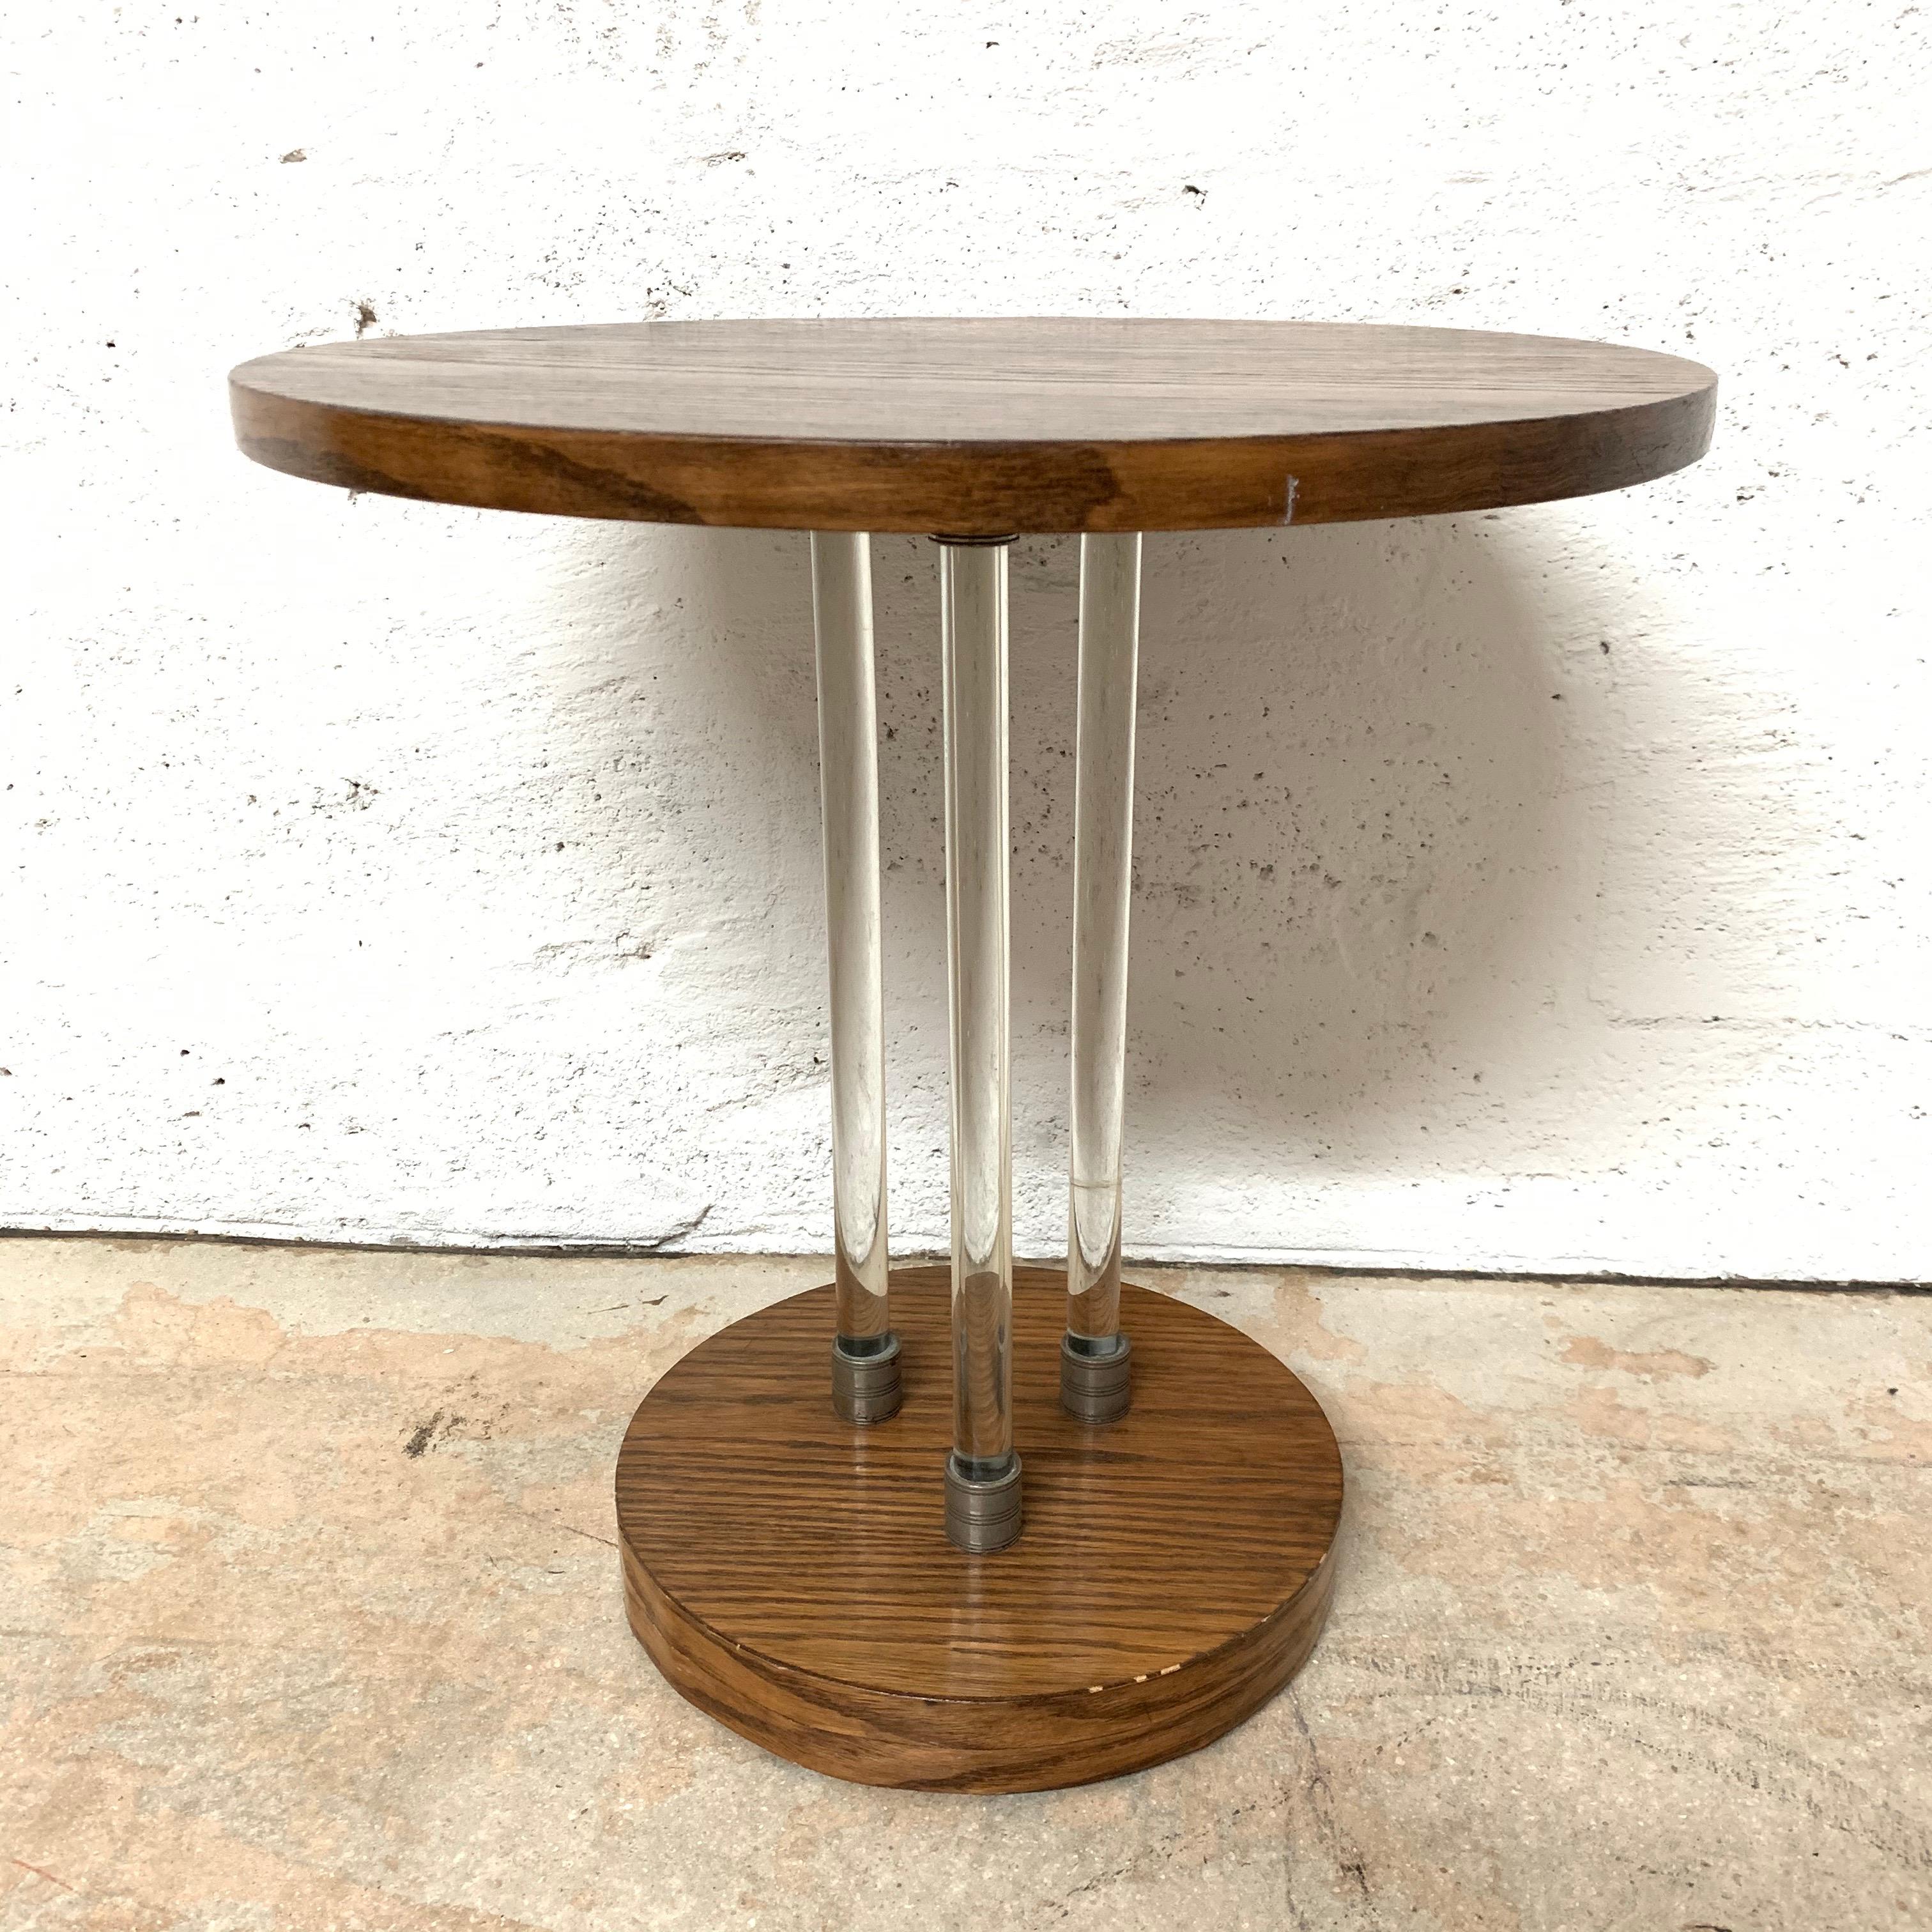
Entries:
[[[8,14],[0,1223],[821,1248],[802,537],[253,469],[352,330],[1281,315],[1716,365],[1706,464],[1153,537],[1128,1246],[1932,1277],[1932,15]],[[945,1227],[929,547],[875,547],[893,1221]],[[1063,1238],[1076,549],[1014,556]]]

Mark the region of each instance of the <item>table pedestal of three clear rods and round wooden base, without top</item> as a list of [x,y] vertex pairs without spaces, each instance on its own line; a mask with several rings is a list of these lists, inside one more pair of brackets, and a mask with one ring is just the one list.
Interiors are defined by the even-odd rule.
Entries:
[[869,539],[821,531],[833,1281],[678,1360],[616,1476],[626,1609],[684,1696],[800,1764],[958,1791],[1157,1764],[1260,1708],[1314,1646],[1341,1511],[1308,1389],[1121,1281],[1138,535],[1080,539],[1066,1267],[1014,1265],[1012,541],[935,539],[949,1264],[889,1265]]

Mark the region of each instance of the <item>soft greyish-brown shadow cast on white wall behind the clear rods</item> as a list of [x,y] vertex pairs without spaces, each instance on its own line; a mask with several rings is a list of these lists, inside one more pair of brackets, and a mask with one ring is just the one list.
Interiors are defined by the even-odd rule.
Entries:
[[[746,910],[796,939],[771,970],[823,1010],[806,539],[634,543],[611,560],[674,583],[715,651],[667,692],[697,703],[701,686],[701,728],[680,736],[692,755],[736,742],[782,802],[763,837],[792,850],[769,854],[779,889]],[[1551,703],[1549,630],[1575,626],[1551,618],[1548,585],[1526,593],[1534,570],[1505,518],[1148,539],[1128,1068],[1142,1202],[1188,1175],[1279,1184],[1426,1161],[1432,1132],[1548,1086],[1536,1036],[1553,952],[1575,943],[1555,927],[1586,925],[1598,840],[1586,794],[1565,790]],[[895,1223],[937,1233],[933,547],[873,539],[873,583]],[[1076,539],[1014,549],[1014,1188],[1022,1246],[1045,1250],[1065,1213],[1076,585]]]

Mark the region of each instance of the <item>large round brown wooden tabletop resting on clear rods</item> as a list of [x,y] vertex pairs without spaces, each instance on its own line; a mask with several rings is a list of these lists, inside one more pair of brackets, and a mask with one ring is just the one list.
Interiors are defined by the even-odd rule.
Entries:
[[1430,516],[1667,475],[1716,377],[1358,323],[734,321],[330,342],[242,363],[272,469],[392,497],[1005,535]]

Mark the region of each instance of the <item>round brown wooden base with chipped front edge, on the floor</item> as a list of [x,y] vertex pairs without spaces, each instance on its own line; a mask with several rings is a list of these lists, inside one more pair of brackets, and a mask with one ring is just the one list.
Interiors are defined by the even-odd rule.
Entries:
[[1134,1405],[1061,1408],[1066,1279],[1014,1269],[1026,1526],[945,1536],[949,1277],[893,1275],[904,1406],[833,1414],[833,1291],[713,1335],[643,1399],[616,1464],[630,1625],[699,1710],[837,1777],[1041,1791],[1196,1750],[1314,1648],[1341,1455],[1238,1329],[1122,1289]]

